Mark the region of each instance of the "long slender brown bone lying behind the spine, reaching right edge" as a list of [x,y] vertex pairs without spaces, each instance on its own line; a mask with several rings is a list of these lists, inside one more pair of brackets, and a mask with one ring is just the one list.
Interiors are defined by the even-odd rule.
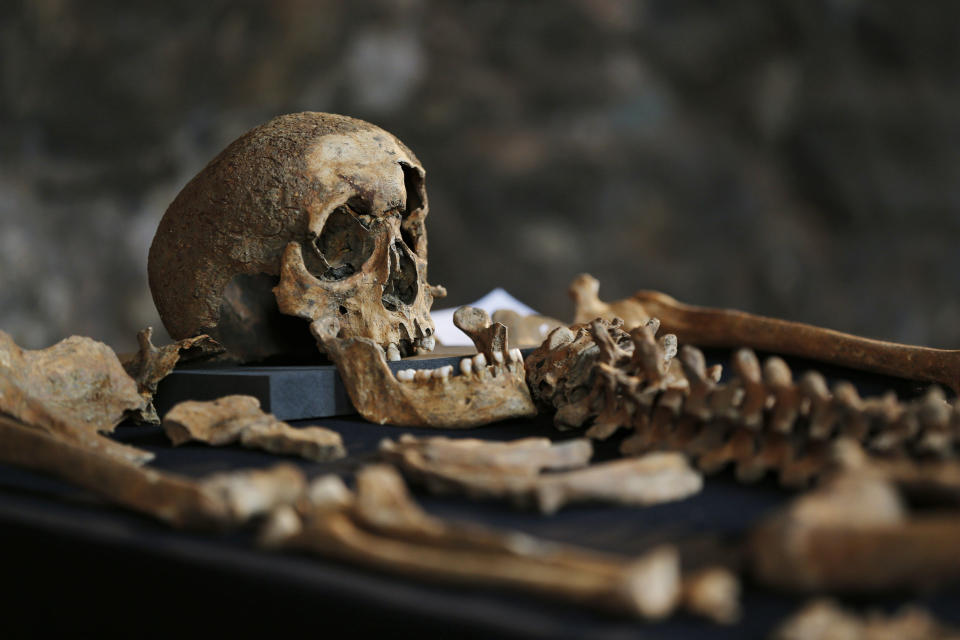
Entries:
[[622,318],[627,328],[659,318],[680,342],[700,347],[748,347],[888,376],[936,382],[960,393],[960,350],[932,349],[863,338],[801,322],[731,309],[696,307],[657,291],[602,302],[600,283],[581,275],[570,285],[575,322]]

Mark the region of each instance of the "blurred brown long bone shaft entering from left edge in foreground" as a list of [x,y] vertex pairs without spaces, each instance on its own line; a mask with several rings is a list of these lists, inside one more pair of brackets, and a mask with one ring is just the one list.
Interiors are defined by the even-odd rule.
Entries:
[[177,528],[221,528],[227,505],[197,483],[0,416],[0,462],[40,471]]

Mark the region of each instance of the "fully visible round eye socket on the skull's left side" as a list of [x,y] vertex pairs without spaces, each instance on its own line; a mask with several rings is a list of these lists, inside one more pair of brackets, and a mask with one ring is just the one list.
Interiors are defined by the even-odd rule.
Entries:
[[358,273],[373,254],[374,242],[358,214],[349,205],[330,214],[313,240],[316,258],[308,270],[324,280],[342,280]]

